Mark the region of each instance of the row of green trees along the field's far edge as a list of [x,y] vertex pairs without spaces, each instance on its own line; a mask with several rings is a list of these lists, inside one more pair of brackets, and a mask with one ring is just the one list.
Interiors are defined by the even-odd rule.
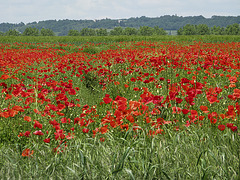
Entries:
[[[10,29],[5,33],[0,33],[2,36],[55,36],[55,33],[51,29],[28,27],[21,34],[16,29]],[[168,33],[158,26],[149,27],[141,26],[140,28],[133,27],[115,27],[114,29],[108,30],[104,28],[92,29],[82,28],[79,30],[70,29],[68,36],[120,36],[120,35],[140,35],[140,36],[153,36],[153,35],[168,35]],[[184,27],[177,30],[177,35],[240,35],[240,26],[237,23],[224,27],[208,27],[206,24],[187,24]]]

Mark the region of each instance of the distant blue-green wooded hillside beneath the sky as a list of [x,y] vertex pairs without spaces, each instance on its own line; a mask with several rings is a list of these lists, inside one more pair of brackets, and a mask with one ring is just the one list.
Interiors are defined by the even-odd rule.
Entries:
[[203,16],[176,16],[165,15],[160,17],[136,17],[129,19],[101,19],[101,20],[46,20],[31,23],[1,23],[0,31],[6,32],[9,29],[16,29],[23,32],[27,27],[36,27],[37,29],[48,28],[53,30],[58,36],[64,36],[68,34],[70,29],[81,30],[82,28],[105,28],[113,29],[114,27],[134,27],[139,28],[141,26],[159,26],[165,30],[178,30],[186,24],[206,24],[209,27],[220,26],[226,27],[234,23],[240,24],[240,16],[212,16],[211,18],[205,18]]

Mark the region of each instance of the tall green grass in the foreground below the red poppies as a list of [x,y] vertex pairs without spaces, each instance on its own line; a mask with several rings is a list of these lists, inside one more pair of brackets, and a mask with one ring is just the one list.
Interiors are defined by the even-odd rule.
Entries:
[[[132,131],[128,132],[132,133]],[[237,179],[239,137],[213,128],[149,138],[108,133],[84,137],[53,155],[46,146],[21,158],[17,145],[0,151],[1,179]],[[35,144],[37,146],[37,144]],[[20,151],[20,150],[19,150]]]

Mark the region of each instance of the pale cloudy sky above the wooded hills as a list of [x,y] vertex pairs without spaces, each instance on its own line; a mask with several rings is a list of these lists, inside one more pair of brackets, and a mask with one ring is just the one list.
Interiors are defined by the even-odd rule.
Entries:
[[240,16],[240,0],[0,0],[0,23],[164,15]]

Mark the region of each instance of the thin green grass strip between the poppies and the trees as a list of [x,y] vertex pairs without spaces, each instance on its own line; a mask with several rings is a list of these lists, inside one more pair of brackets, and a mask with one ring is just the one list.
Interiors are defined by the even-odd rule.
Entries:
[[206,36],[0,36],[0,43],[71,43],[80,45],[86,42],[113,43],[122,41],[203,41],[203,42],[239,42],[240,36],[206,35]]

